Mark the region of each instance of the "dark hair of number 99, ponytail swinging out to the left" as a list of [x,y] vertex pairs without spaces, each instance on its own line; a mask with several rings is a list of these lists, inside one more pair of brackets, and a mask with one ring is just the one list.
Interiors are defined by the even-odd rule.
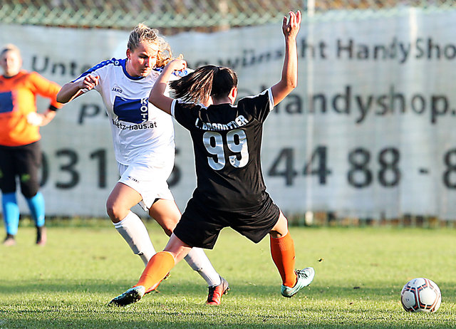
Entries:
[[175,97],[194,103],[203,102],[209,96],[222,98],[237,87],[237,75],[231,68],[207,65],[197,68],[179,80],[170,82]]

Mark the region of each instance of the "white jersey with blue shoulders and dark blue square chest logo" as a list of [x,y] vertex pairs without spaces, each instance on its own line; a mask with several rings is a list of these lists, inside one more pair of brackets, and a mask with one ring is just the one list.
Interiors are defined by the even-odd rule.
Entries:
[[161,158],[174,162],[172,117],[149,103],[149,94],[160,72],[133,77],[125,69],[126,59],[112,58],[83,73],[99,76],[95,90],[105,103],[113,135],[115,160],[129,165],[141,159]]

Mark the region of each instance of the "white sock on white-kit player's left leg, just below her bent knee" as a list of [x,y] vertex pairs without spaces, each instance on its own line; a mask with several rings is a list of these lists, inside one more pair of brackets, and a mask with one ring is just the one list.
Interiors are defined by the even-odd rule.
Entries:
[[130,211],[124,219],[113,224],[133,253],[139,255],[146,266],[149,259],[155,255],[155,249],[142,220]]

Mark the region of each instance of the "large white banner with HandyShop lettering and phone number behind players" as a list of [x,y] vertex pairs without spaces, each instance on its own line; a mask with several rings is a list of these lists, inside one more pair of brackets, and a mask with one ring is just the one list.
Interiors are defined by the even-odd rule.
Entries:
[[[0,26],[24,68],[61,85],[102,60],[125,57],[128,32]],[[456,219],[456,11],[304,22],[299,85],[266,120],[264,179],[286,214],[403,214]],[[281,74],[280,24],[167,37],[189,66],[230,66],[240,95]],[[40,101],[41,109],[48,103]],[[195,188],[189,135],[176,128],[170,185],[181,210]],[[47,214],[105,216],[118,179],[108,120],[95,91],[41,129]],[[24,212],[25,204],[21,204]]]

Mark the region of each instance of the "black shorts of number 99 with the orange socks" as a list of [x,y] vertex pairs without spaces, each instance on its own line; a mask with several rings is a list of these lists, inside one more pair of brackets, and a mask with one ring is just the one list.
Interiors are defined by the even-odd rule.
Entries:
[[276,225],[279,216],[280,209],[269,194],[257,207],[232,211],[207,207],[192,197],[174,229],[174,234],[189,246],[213,249],[220,231],[224,227],[231,227],[257,244]]

